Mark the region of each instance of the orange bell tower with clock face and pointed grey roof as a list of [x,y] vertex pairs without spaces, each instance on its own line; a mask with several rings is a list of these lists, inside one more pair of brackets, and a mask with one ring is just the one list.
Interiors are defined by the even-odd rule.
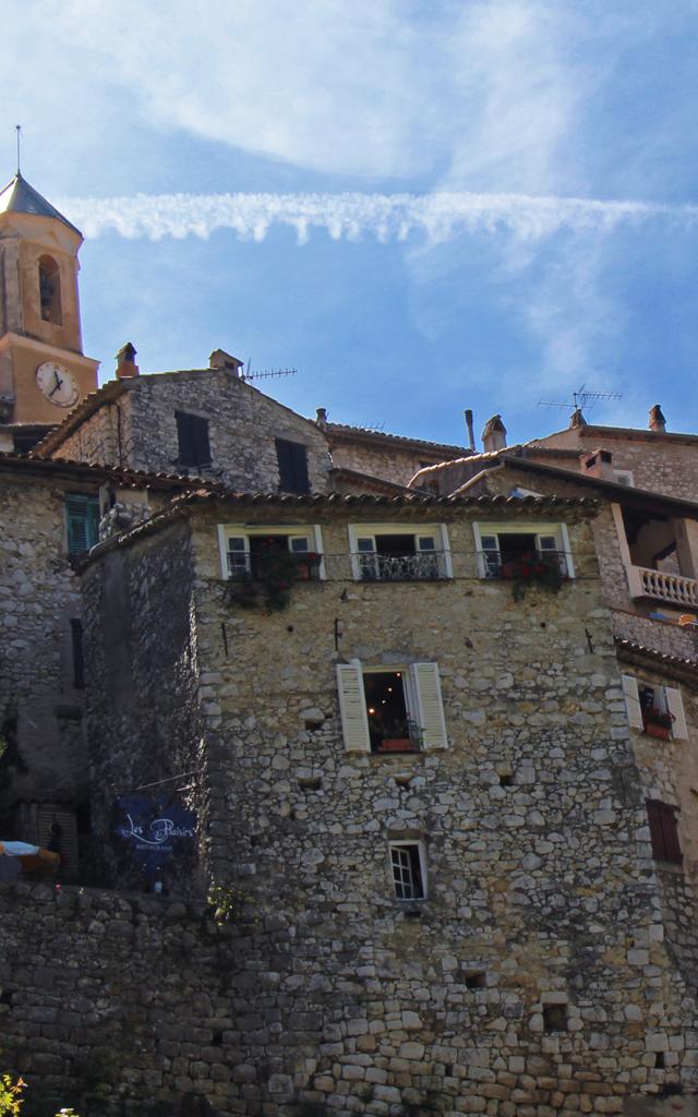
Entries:
[[58,423],[97,388],[83,354],[83,236],[18,172],[0,191],[0,423]]

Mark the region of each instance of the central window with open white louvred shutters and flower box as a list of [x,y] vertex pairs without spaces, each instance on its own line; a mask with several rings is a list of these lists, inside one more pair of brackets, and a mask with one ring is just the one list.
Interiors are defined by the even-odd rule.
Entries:
[[337,663],[344,744],[352,752],[414,752],[448,744],[437,663]]

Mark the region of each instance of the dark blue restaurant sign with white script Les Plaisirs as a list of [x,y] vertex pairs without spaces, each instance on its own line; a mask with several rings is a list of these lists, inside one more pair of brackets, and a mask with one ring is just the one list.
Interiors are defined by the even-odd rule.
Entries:
[[192,848],[197,815],[164,798],[123,795],[116,800],[115,833],[149,876],[155,876],[176,853]]

